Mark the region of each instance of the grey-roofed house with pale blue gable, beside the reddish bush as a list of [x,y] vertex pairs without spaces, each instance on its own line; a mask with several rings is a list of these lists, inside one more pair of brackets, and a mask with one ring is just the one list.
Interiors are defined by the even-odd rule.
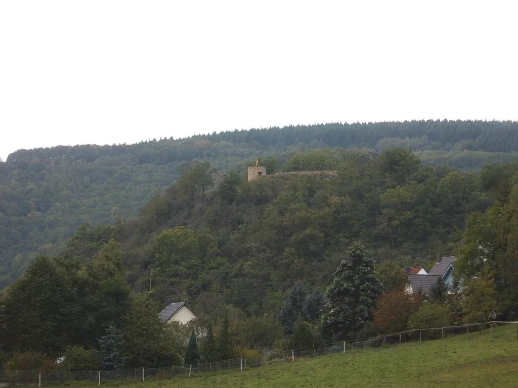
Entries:
[[407,292],[422,293],[425,296],[430,296],[438,282],[442,282],[445,286],[450,286],[453,283],[453,264],[456,260],[455,256],[439,256],[437,263],[428,274],[420,275],[407,272]]

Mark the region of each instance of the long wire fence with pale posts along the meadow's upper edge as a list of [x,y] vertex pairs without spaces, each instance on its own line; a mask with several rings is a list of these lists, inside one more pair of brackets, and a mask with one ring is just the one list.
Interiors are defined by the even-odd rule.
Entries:
[[54,385],[71,381],[91,381],[100,385],[106,380],[145,381],[151,378],[191,377],[199,373],[219,370],[244,370],[269,364],[295,362],[300,359],[318,357],[333,353],[346,353],[352,350],[382,348],[401,345],[406,342],[440,340],[453,336],[466,336],[467,339],[490,335],[492,338],[518,340],[518,321],[486,322],[461,326],[444,326],[432,329],[407,330],[384,335],[365,341],[338,341],[312,346],[307,349],[292,349],[281,352],[265,352],[260,358],[232,359],[192,365],[175,365],[163,368],[135,368],[124,370],[0,370],[0,387],[9,385]]

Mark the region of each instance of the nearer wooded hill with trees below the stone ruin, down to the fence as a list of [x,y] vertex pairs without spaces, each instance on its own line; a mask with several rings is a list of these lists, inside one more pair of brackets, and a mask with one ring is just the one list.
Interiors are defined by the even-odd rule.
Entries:
[[[136,217],[84,223],[38,256],[0,293],[4,368],[211,362],[518,315],[516,163],[460,171],[394,147],[313,150],[278,168],[337,174],[249,182],[191,162]],[[462,289],[439,282],[427,303],[404,291],[402,267],[449,254]],[[192,325],[159,321],[182,300]]]

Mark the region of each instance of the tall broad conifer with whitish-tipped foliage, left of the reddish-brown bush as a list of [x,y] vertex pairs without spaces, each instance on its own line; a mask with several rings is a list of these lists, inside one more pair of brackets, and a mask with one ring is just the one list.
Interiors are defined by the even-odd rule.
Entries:
[[327,303],[322,314],[324,336],[354,338],[363,324],[372,320],[371,308],[381,292],[382,287],[374,274],[374,261],[361,244],[354,243],[326,290]]

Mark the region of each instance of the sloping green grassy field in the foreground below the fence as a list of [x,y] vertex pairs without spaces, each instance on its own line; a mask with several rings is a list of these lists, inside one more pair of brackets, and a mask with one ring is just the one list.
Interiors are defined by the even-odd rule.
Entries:
[[[503,328],[502,328],[503,329]],[[492,337],[472,333],[444,340],[355,350],[261,368],[106,386],[174,387],[515,387],[518,340],[513,327]],[[69,386],[93,386],[80,383]]]

